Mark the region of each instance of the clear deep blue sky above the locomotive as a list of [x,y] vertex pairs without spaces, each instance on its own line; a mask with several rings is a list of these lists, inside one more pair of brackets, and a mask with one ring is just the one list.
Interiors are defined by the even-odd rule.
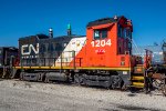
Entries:
[[21,37],[86,34],[86,24],[101,18],[124,16],[133,21],[136,46],[160,44],[166,39],[166,0],[0,0],[0,47],[18,47]]

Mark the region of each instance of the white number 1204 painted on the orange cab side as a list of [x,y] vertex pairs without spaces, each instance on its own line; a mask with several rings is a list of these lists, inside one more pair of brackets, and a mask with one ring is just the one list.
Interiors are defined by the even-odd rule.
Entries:
[[112,41],[111,39],[104,39],[104,40],[95,40],[91,42],[92,47],[111,47]]

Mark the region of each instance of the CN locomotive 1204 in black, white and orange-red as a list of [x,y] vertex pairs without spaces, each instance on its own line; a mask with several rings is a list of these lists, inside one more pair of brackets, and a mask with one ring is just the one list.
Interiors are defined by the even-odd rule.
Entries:
[[89,22],[86,36],[72,34],[69,24],[68,36],[53,38],[50,29],[49,36],[20,38],[11,77],[112,89],[145,88],[147,91],[153,80],[165,82],[165,63],[153,64],[149,50],[144,58],[134,56],[132,32],[132,20],[115,16]]

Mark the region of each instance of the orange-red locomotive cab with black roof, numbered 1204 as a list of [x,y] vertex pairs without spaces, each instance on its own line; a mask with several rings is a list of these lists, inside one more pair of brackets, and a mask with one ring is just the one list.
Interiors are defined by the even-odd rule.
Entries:
[[125,17],[92,21],[86,27],[84,67],[129,68],[132,22]]

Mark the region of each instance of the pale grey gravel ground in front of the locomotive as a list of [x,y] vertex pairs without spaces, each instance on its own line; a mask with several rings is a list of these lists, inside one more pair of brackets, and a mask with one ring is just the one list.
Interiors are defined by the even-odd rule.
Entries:
[[0,80],[0,111],[166,111],[166,97]]

